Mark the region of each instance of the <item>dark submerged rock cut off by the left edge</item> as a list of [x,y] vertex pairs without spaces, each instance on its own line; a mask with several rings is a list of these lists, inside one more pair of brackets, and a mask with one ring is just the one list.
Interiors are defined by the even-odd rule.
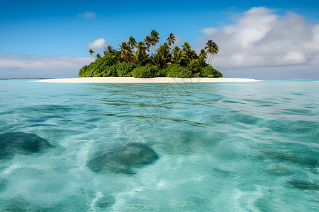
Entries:
[[6,158],[16,153],[38,153],[47,147],[51,147],[50,143],[35,134],[26,134],[23,132],[6,132],[0,134],[0,158]]

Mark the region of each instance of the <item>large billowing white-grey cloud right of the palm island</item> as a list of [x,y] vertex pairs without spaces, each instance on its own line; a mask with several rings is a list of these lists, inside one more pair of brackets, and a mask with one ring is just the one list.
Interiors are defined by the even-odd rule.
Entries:
[[[319,25],[311,25],[293,12],[278,16],[268,8],[251,8],[233,24],[201,32],[206,35],[202,44],[208,39],[218,44],[220,52],[213,65],[221,70],[284,66],[306,70],[310,64],[319,66]],[[285,70],[289,74],[289,68]]]

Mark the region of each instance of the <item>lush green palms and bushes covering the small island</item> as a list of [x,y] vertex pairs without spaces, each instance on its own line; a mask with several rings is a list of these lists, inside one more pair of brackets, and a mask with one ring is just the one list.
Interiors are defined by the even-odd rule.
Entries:
[[170,33],[166,42],[156,49],[159,33],[152,30],[144,41],[136,42],[130,36],[128,42],[118,45],[119,49],[113,49],[111,45],[106,47],[103,57],[101,54],[94,55],[94,51],[89,49],[95,61],[83,66],[79,77],[223,77],[223,73],[211,66],[213,56],[219,50],[215,42],[208,40],[206,47],[197,54],[189,42],[184,42],[181,48],[173,48],[175,41],[175,35]]

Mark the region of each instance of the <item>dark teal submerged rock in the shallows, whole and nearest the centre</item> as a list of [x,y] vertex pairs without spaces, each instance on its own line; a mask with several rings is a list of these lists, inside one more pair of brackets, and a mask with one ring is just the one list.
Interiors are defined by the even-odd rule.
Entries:
[[140,167],[157,160],[158,155],[144,143],[128,143],[104,149],[94,155],[86,164],[94,172],[133,174],[132,167]]

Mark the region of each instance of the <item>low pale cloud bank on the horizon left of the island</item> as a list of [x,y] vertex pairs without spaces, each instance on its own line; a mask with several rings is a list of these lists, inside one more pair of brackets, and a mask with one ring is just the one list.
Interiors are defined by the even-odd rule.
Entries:
[[92,57],[49,57],[0,54],[0,78],[67,78],[77,77]]

